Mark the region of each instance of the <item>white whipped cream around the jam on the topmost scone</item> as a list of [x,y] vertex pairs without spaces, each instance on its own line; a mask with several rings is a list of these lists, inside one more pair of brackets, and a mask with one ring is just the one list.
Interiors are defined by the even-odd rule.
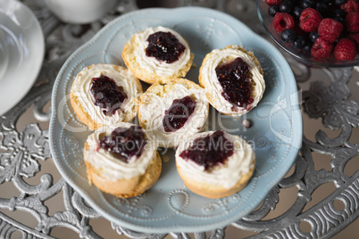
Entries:
[[[146,56],[146,47],[149,44],[147,38],[151,34],[154,34],[158,31],[171,32],[171,34],[177,37],[179,42],[186,47],[185,51],[179,56],[178,61],[166,63],[157,61],[155,57]],[[148,28],[142,32],[139,32],[138,34],[135,34],[134,41],[132,44],[136,45],[136,47],[134,46],[134,55],[136,57],[136,62],[138,62],[140,68],[143,68],[149,72],[153,72],[158,76],[162,77],[171,77],[173,74],[177,73],[188,63],[191,56],[187,41],[173,29],[168,29],[161,26],[157,28]]]

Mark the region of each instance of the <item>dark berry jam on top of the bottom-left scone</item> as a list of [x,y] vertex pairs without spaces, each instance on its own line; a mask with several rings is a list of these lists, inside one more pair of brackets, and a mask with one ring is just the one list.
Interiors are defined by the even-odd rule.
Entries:
[[129,162],[132,156],[140,156],[145,144],[145,134],[139,126],[115,128],[110,136],[101,137],[99,142],[101,148],[125,162]]

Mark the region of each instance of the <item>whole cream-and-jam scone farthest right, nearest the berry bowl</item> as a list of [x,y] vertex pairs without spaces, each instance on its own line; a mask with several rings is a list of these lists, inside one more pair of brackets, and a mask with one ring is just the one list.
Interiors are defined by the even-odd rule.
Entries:
[[265,90],[263,70],[252,52],[238,45],[214,49],[205,56],[199,83],[212,106],[223,114],[241,116],[253,109]]

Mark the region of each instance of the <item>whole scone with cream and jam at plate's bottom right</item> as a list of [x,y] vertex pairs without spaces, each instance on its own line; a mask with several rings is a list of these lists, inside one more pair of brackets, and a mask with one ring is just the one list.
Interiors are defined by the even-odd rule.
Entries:
[[198,133],[176,150],[176,166],[195,194],[221,198],[243,189],[255,170],[255,152],[239,136],[221,130]]

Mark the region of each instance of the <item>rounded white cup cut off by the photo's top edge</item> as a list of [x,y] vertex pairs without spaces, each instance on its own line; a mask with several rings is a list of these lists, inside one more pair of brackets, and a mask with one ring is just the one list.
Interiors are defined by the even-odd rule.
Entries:
[[118,0],[45,0],[48,8],[67,23],[85,24],[109,12]]

